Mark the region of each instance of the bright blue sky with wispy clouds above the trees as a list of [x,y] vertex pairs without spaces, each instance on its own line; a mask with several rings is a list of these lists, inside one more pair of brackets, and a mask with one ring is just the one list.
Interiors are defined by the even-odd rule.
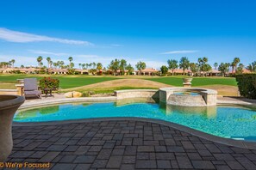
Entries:
[[168,59],[256,60],[254,0],[0,1],[0,62],[37,65],[68,57],[78,64],[124,58],[133,66]]

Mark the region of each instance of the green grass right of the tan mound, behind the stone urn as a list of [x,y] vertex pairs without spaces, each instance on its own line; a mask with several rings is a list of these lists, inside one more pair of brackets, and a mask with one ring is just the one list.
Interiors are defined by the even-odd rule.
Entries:
[[[159,78],[148,78],[147,80],[162,82],[172,86],[182,86],[182,79],[182,76],[168,76]],[[214,84],[237,86],[237,82],[233,77],[193,77],[192,80],[192,86],[206,86]]]

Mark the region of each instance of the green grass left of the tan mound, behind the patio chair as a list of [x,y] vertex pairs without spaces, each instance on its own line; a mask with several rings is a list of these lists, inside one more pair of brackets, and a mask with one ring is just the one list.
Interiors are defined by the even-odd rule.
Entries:
[[[0,82],[16,82],[16,79],[23,79],[26,77],[35,77],[40,80],[42,77],[48,75],[0,75]],[[116,80],[115,76],[56,76],[51,75],[59,79],[60,88],[76,88],[97,82],[105,82],[110,80]],[[1,87],[0,87],[1,88]]]

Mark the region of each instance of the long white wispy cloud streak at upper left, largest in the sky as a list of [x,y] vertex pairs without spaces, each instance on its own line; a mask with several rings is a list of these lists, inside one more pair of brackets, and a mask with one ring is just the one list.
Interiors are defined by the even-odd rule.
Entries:
[[0,27],[0,39],[6,40],[9,42],[16,42],[16,43],[47,41],[47,42],[57,42],[57,43],[69,44],[69,45],[93,46],[93,44],[88,41],[73,40],[73,39],[59,39],[59,38],[53,38],[53,37],[48,37],[44,35],[36,35],[32,33],[22,33],[18,31],[12,31],[4,27]]

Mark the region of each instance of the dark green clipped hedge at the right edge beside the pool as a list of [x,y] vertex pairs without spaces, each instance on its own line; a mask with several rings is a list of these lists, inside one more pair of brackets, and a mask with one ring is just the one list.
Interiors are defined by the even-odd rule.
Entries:
[[248,99],[256,99],[256,74],[236,76],[240,95]]

